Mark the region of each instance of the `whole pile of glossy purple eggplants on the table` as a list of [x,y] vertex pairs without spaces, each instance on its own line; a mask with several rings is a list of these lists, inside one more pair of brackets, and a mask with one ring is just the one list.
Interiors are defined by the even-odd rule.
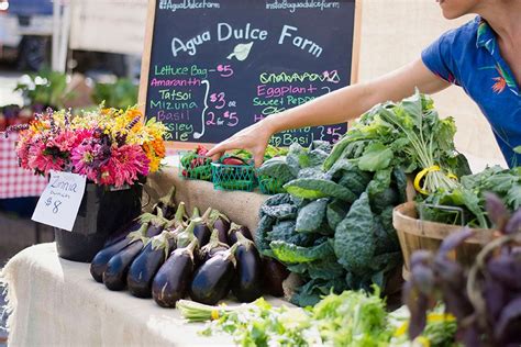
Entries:
[[262,259],[250,230],[217,210],[189,216],[185,203],[174,203],[175,191],[154,213],[125,225],[93,258],[92,278],[110,290],[153,298],[175,307],[187,295],[214,305],[232,292],[240,302],[264,293],[281,296],[289,272],[270,258]]

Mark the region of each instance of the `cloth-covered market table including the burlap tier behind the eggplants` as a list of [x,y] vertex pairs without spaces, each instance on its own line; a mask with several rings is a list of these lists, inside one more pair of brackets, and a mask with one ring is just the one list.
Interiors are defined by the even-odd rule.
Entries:
[[[212,183],[184,180],[175,158],[145,186],[148,208],[171,186],[176,201],[188,209],[219,209],[232,221],[256,228],[258,209],[267,195],[217,191]],[[26,248],[4,267],[9,283],[10,346],[228,346],[230,336],[198,336],[202,324],[186,324],[177,310],[157,306],[153,300],[112,292],[96,282],[88,264],[57,257],[55,244]],[[282,301],[270,299],[275,305]]]

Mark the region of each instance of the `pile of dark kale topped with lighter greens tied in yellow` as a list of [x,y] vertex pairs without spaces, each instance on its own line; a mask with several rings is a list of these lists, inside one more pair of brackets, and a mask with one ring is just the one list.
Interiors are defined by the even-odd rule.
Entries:
[[[260,174],[285,182],[287,193],[263,204],[256,244],[300,276],[292,303],[313,305],[331,290],[386,288],[402,261],[392,209],[406,201],[406,174],[434,164],[469,171],[455,155],[454,133],[453,121],[440,120],[417,93],[375,107],[333,149],[293,144],[286,158],[265,163]],[[442,171],[431,174],[428,189],[452,187]]]

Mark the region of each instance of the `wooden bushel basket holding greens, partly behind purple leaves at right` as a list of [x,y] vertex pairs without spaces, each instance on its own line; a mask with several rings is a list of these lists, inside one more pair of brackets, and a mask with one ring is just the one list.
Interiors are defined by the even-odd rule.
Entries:
[[[392,225],[400,239],[404,260],[403,278],[406,280],[409,278],[410,257],[414,250],[426,249],[436,251],[445,237],[462,230],[461,226],[456,225],[419,220],[414,202],[406,202],[395,208]],[[450,255],[463,265],[473,264],[481,246],[494,238],[494,230],[474,228],[473,231],[476,234],[467,238],[462,246],[457,247]]]

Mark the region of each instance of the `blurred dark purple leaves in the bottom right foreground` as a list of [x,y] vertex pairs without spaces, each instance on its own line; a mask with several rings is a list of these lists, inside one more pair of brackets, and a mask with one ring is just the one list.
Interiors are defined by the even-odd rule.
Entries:
[[521,344],[521,210],[510,214],[489,194],[486,211],[500,235],[484,246],[469,269],[450,253],[474,234],[470,230],[445,238],[435,255],[412,255],[411,279],[404,287],[412,338],[425,331],[425,312],[441,300],[456,317],[456,338],[465,346]]

